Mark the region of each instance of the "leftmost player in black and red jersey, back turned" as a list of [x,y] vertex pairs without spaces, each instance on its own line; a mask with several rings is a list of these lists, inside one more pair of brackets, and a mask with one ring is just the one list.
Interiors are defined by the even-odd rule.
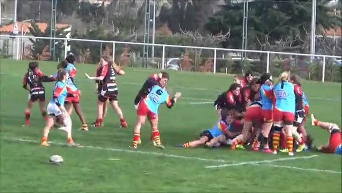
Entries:
[[[47,119],[47,115],[45,112],[45,88],[42,82],[50,82],[53,79],[45,76],[39,69],[38,62],[30,62],[28,64],[27,73],[24,75],[23,79],[23,88],[29,91],[29,100],[27,101],[27,107],[25,111],[25,122],[26,126],[30,125],[30,112],[32,108],[32,104],[36,101],[39,101],[40,112],[44,119]],[[27,88],[27,85],[30,88]]]

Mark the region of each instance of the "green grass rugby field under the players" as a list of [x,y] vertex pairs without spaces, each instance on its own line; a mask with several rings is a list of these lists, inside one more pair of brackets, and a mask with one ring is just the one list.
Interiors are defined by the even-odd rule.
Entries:
[[[78,130],[81,123],[73,114],[73,138],[83,148],[65,147],[66,134],[53,129],[50,147],[39,145],[44,121],[38,104],[31,112],[31,125],[24,124],[27,92],[22,79],[28,61],[1,59],[0,94],[0,191],[1,192],[341,192],[341,156],[317,152],[266,155],[229,147],[177,149],[177,143],[196,139],[211,128],[217,115],[210,103],[226,90],[233,76],[193,72],[170,72],[168,90],[181,91],[183,98],[169,110],[159,110],[159,130],[165,149],[155,149],[149,141],[148,124],[142,129],[142,144],[129,149],[136,119],[133,100],[153,69],[125,68],[118,77],[119,105],[129,128],[119,127],[111,108],[105,126]],[[40,62],[45,74],[56,71],[54,62]],[[82,91],[81,107],[88,124],[96,117],[94,82],[84,73],[94,74],[95,65],[79,64],[76,83]],[[303,80],[310,110],[316,117],[341,125],[341,84]],[[47,100],[53,83],[45,83]],[[197,104],[194,104],[197,103]],[[310,120],[310,118],[308,119]],[[329,133],[306,123],[314,144],[324,144]],[[51,155],[61,155],[65,163],[48,164]],[[313,156],[318,155],[318,156]],[[303,158],[304,157],[304,158]],[[285,160],[282,160],[285,159]],[[271,162],[263,162],[271,160]],[[247,163],[246,163],[247,162]],[[239,164],[220,168],[210,165]]]

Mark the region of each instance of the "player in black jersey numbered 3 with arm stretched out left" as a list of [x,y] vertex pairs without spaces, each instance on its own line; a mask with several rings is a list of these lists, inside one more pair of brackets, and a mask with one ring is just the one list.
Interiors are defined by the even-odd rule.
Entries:
[[109,56],[104,56],[100,60],[102,71],[98,77],[90,77],[87,73],[86,76],[90,80],[103,81],[102,90],[98,94],[97,100],[97,119],[94,126],[100,127],[103,118],[103,104],[109,99],[109,103],[115,109],[120,118],[121,127],[127,128],[127,122],[123,118],[121,108],[118,105],[118,87],[116,84],[116,75],[124,75],[124,71],[120,69],[115,63],[112,62]]

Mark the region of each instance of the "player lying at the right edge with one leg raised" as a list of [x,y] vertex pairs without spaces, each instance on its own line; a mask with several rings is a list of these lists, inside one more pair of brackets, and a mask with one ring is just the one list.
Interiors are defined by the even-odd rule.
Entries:
[[336,124],[319,121],[314,117],[313,114],[311,114],[311,124],[313,126],[319,126],[322,129],[326,129],[329,133],[331,133],[329,142],[324,146],[320,146],[317,150],[324,153],[334,153],[342,155],[342,140],[340,128]]

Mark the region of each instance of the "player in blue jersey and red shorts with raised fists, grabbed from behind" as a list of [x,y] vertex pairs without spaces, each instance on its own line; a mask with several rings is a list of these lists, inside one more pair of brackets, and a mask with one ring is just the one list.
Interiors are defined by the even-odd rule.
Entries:
[[153,86],[150,93],[140,101],[139,106],[136,110],[137,121],[134,126],[133,133],[133,144],[132,148],[137,148],[138,144],[141,142],[140,139],[140,129],[145,123],[146,116],[151,124],[151,130],[153,139],[155,141],[155,146],[159,148],[164,148],[160,142],[159,130],[158,130],[158,108],[162,103],[166,103],[167,107],[171,108],[177,99],[182,95],[180,92],[176,92],[174,97],[171,99],[169,94],[164,89],[169,81],[169,74],[162,72],[162,76],[159,80],[160,85]]

